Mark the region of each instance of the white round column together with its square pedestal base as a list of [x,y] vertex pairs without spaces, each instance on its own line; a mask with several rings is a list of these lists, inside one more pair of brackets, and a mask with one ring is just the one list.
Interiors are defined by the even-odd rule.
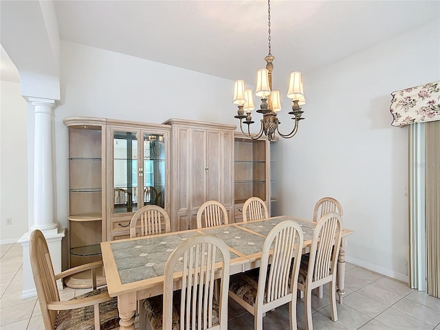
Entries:
[[[29,242],[32,230],[41,230],[50,250],[55,274],[61,272],[61,239],[64,228],[58,228],[54,217],[54,151],[52,115],[55,100],[28,98],[34,106],[34,223],[19,239],[23,246],[23,292],[22,298],[36,296],[30,266]],[[32,147],[32,146],[29,146]],[[61,282],[58,283],[61,288]]]

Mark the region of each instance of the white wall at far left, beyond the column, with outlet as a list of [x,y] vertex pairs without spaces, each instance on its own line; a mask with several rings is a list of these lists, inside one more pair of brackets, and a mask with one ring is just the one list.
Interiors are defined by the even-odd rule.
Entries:
[[5,244],[28,231],[28,110],[19,83],[1,80],[0,87],[0,243]]

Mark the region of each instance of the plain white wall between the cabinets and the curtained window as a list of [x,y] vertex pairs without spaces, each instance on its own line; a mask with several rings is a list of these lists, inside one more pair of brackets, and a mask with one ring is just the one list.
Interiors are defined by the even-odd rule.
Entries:
[[[408,135],[391,126],[390,94],[439,80],[439,34],[438,23],[428,24],[306,73],[306,120],[274,145],[283,178],[276,212],[310,219],[318,199],[335,197],[344,227],[355,230],[347,260],[403,281]],[[291,121],[286,112],[282,126]]]

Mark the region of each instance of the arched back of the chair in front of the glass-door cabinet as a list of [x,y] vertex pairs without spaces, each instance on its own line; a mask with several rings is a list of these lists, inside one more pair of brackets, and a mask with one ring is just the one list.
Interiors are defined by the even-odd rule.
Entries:
[[[140,221],[140,234],[136,235],[137,221]],[[130,238],[170,232],[170,217],[166,210],[157,205],[146,205],[133,214],[130,221]]]

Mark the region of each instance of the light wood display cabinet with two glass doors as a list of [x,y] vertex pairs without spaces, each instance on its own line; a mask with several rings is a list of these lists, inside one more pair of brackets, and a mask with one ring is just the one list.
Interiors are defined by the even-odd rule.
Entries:
[[130,236],[134,212],[170,212],[170,126],[107,120],[107,239]]

